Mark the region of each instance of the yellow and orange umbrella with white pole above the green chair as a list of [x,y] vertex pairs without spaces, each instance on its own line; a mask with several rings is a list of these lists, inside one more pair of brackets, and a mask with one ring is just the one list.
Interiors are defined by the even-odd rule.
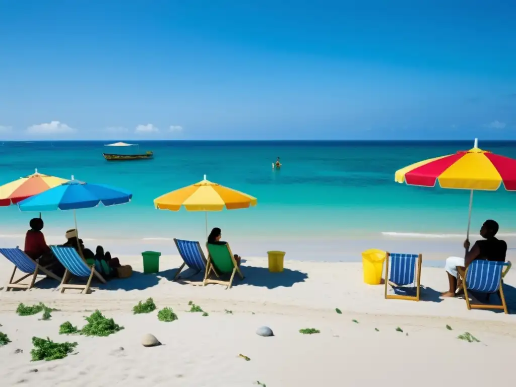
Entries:
[[179,211],[184,207],[186,211],[204,211],[206,219],[206,236],[208,235],[208,211],[222,211],[222,209],[238,209],[255,206],[257,199],[217,183],[204,179],[154,199],[157,209]]

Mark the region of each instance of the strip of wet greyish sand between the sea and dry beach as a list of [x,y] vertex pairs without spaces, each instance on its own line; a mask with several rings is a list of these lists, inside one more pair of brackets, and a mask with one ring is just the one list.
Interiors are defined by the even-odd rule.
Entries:
[[[175,247],[172,237],[144,237],[141,238],[88,238],[83,236],[79,230],[79,237],[84,240],[85,246],[94,251],[97,245],[102,245],[112,256],[139,256],[147,250],[159,251],[162,256],[178,257],[179,252]],[[178,239],[181,234],[178,233]],[[204,235],[198,233],[198,238],[189,237],[195,234],[182,233],[187,240],[198,240],[202,249],[204,247]],[[471,236],[470,240],[474,243],[478,238]],[[506,260],[516,262],[516,237],[504,238],[507,242],[508,250]],[[65,242],[64,237],[57,235],[47,235],[47,244],[59,245]],[[418,238],[418,237],[393,237],[383,235],[377,238],[357,238],[343,235],[341,237],[312,235],[310,237],[288,237],[280,236],[233,236],[228,240],[231,249],[236,254],[247,257],[260,257],[267,259],[267,251],[285,251],[285,260],[303,262],[361,262],[362,251],[375,248],[389,252],[402,252],[423,254],[423,264],[425,266],[442,267],[448,256],[463,256],[462,247],[463,237],[450,238]],[[0,232],[0,246],[16,247],[24,246],[24,235],[6,237]]]

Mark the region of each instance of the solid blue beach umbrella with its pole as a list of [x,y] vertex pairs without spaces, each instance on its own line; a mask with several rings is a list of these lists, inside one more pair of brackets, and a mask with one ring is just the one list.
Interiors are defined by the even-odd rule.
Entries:
[[105,206],[124,204],[130,202],[132,198],[133,194],[129,191],[104,184],[83,183],[75,180],[72,175],[72,180],[22,200],[18,203],[18,207],[22,212],[72,209],[75,230],[77,230],[76,209],[92,208],[100,204]]

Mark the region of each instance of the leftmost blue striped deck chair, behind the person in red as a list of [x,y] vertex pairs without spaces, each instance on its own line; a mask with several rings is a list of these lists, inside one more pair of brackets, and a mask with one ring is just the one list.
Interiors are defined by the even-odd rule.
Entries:
[[[6,292],[9,292],[11,288],[26,290],[32,288],[40,271],[45,275],[61,282],[61,279],[49,270],[53,265],[47,265],[44,267],[40,266],[39,263],[31,259],[31,257],[25,254],[25,252],[20,250],[18,246],[15,249],[0,249],[0,254],[5,256],[14,265],[11,278],[9,279],[9,283],[6,286]],[[14,274],[16,273],[17,269],[24,272],[25,276],[13,282]],[[20,283],[27,277],[31,277],[28,284]]]

